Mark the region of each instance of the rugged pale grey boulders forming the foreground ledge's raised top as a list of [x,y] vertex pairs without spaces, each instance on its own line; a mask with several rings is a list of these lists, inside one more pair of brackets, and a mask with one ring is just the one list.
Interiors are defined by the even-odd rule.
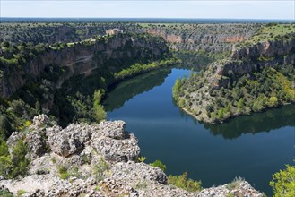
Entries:
[[[25,138],[30,158],[39,158],[49,150],[67,158],[79,154],[89,146],[113,162],[135,160],[140,156],[138,141],[134,134],[126,133],[123,121],[70,124],[65,129],[49,122],[48,116],[40,115],[30,125],[30,132]],[[14,133],[9,144],[19,139],[19,134]]]

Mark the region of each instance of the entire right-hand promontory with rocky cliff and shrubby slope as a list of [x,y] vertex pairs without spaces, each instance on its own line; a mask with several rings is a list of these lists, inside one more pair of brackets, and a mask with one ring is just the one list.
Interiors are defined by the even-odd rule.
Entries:
[[198,120],[218,123],[294,102],[295,25],[269,25],[262,31],[268,39],[258,34],[204,73],[178,80],[173,94],[179,107]]

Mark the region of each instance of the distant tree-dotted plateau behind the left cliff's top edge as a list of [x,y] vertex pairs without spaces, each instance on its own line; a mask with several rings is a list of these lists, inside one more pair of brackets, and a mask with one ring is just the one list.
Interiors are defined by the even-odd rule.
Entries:
[[104,35],[112,28],[133,30],[134,23],[126,22],[8,22],[0,26],[1,38],[13,43],[78,42]]

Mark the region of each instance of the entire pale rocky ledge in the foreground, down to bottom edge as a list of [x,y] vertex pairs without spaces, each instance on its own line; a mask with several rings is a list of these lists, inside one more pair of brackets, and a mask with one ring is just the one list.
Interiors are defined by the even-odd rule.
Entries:
[[[62,129],[36,116],[24,133],[7,141],[12,153],[24,139],[28,175],[0,181],[0,191],[22,196],[263,196],[246,181],[188,193],[167,184],[159,167],[138,162],[140,148],[123,121],[70,124]],[[22,193],[22,194],[20,194]]]

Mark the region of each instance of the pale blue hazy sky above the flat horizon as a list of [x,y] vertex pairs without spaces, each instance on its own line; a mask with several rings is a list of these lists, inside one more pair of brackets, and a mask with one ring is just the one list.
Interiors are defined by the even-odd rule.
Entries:
[[221,18],[295,21],[295,0],[0,0],[0,17]]

